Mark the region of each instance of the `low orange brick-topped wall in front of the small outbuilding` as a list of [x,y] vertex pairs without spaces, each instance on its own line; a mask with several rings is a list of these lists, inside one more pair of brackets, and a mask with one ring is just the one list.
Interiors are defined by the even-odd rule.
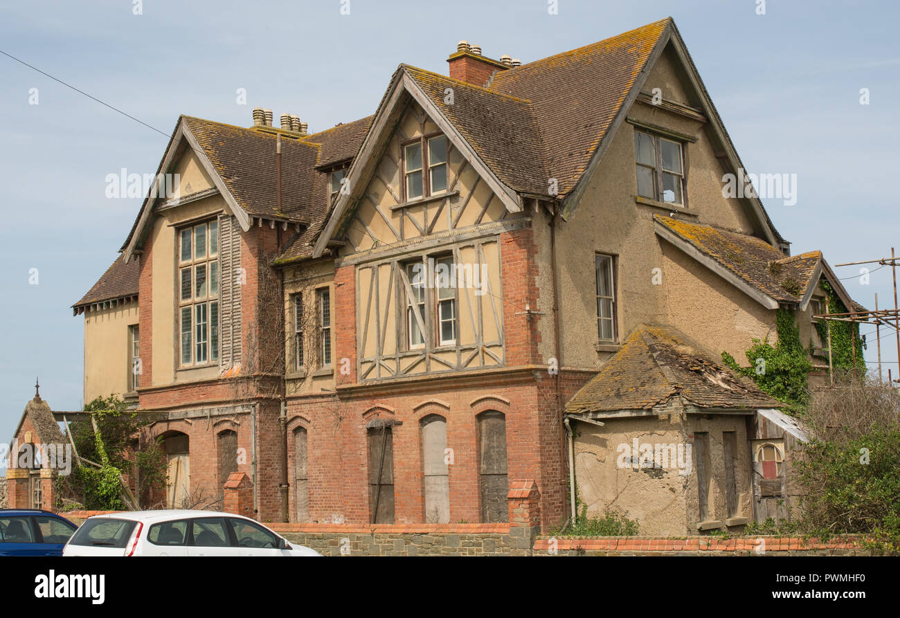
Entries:
[[[765,544],[760,542],[764,541]],[[760,534],[734,539],[711,536],[650,537],[650,536],[578,536],[554,537],[541,535],[535,540],[536,551],[796,551],[796,550],[857,550],[866,537],[845,534],[827,542],[802,537],[781,537]]]

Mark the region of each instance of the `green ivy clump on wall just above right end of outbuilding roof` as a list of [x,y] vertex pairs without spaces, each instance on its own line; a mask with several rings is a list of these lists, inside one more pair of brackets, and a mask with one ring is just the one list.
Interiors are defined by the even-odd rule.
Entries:
[[785,404],[788,414],[797,414],[809,402],[806,376],[813,371],[806,348],[800,343],[793,309],[778,309],[775,315],[779,340],[775,345],[768,337],[763,341],[752,339],[752,346],[745,353],[749,367],[741,367],[734,356],[722,353],[722,360],[734,372],[749,376],[760,390]]

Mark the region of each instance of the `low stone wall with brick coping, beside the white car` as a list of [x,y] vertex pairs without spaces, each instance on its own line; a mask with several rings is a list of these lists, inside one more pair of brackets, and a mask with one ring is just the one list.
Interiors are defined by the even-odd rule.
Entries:
[[266,524],[325,556],[529,556],[531,529],[509,524]]

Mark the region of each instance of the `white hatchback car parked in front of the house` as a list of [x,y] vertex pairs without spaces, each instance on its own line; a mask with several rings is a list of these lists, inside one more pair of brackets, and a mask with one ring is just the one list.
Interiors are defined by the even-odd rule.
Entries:
[[220,511],[130,511],[94,515],[63,556],[321,556],[248,517]]

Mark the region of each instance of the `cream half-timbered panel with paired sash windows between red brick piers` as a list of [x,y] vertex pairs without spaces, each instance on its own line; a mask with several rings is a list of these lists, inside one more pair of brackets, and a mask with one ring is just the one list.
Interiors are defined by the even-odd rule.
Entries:
[[501,293],[497,236],[357,265],[360,380],[502,365]]

